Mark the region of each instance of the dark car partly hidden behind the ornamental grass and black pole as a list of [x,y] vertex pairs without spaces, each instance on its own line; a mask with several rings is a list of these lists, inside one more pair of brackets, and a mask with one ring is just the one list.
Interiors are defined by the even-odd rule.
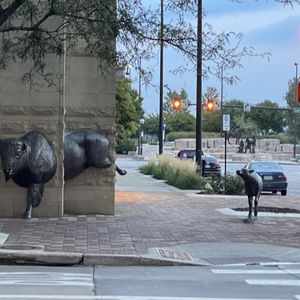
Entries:
[[[178,152],[177,157],[180,159],[196,159],[196,151],[185,149]],[[203,175],[204,176],[211,176],[211,175],[221,175],[221,165],[219,164],[218,160],[208,154],[204,154],[202,152],[201,156],[202,166],[203,168]]]

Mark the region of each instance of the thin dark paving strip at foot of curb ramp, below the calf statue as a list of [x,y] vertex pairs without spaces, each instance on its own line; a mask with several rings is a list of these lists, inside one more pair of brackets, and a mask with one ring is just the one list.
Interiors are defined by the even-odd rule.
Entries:
[[256,264],[256,263],[268,263],[277,262],[277,260],[269,257],[205,257],[202,258],[214,265],[226,265],[226,264]]

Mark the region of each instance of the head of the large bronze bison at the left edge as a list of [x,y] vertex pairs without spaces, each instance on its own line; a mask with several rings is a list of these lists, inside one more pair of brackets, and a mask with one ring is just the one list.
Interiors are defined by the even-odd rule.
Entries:
[[24,167],[27,145],[18,139],[4,139],[0,141],[0,157],[5,180],[13,178],[18,170]]

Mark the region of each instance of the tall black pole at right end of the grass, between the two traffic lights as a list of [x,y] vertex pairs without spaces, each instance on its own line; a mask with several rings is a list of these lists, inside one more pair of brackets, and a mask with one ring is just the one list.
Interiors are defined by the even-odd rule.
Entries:
[[196,79],[196,163],[198,172],[202,175],[202,136],[201,136],[201,107],[202,107],[202,0],[198,0],[197,18],[197,79]]

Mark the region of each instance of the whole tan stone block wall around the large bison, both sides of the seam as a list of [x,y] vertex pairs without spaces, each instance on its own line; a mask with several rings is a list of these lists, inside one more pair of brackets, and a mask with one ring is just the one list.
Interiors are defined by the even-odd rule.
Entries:
[[[64,214],[113,214],[115,171],[90,168],[66,183],[63,181],[63,130],[92,128],[110,141],[109,156],[115,155],[115,77],[104,76],[96,60],[83,55],[59,59],[47,56],[47,67],[56,74],[56,85],[43,80],[34,86],[22,82],[29,65],[12,63],[0,73],[0,138],[19,137],[40,130],[52,143],[58,159],[54,178],[45,185],[33,217]],[[0,173],[0,217],[21,217],[27,189],[5,182]]]

